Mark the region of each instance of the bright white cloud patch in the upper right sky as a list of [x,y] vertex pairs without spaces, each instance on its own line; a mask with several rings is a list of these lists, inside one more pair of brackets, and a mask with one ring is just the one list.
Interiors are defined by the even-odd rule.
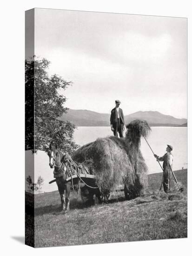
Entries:
[[113,40],[110,50],[127,64],[132,61],[142,64],[148,61],[159,63],[165,61],[171,43],[172,39],[168,34],[146,36],[127,32]]

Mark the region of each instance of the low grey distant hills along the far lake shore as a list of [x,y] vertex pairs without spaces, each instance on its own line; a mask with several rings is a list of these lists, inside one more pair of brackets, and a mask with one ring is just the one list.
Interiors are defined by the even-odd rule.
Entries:
[[[146,120],[150,126],[187,126],[187,119],[175,118],[171,115],[163,115],[158,111],[138,111],[125,116],[125,123],[134,119]],[[109,126],[110,114],[97,113],[90,110],[69,109],[60,120],[70,121],[76,126]]]

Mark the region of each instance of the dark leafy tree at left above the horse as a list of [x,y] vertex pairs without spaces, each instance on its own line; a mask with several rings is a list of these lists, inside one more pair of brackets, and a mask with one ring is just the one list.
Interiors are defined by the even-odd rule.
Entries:
[[[50,62],[46,59],[26,60],[26,150],[46,150],[49,143],[57,143],[61,151],[72,153],[78,146],[73,141],[75,126],[60,121],[67,112],[64,90],[72,85],[59,75],[49,76]],[[34,125],[33,125],[34,122]]]

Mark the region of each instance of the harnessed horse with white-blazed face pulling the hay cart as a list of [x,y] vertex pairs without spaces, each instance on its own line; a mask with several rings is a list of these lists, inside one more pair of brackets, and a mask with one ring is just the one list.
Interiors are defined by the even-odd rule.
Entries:
[[[50,143],[47,155],[49,156],[50,168],[54,168],[53,174],[54,174],[54,178],[56,179],[56,183],[60,193],[61,211],[64,213],[67,213],[69,211],[69,195],[71,191],[71,186],[73,186],[73,189],[74,189],[73,178],[66,181],[69,175],[72,176],[71,174],[69,174],[69,172],[67,172],[67,162],[68,162],[67,155],[63,154],[58,149],[57,144],[54,142]],[[77,167],[78,163],[75,163],[75,165]],[[99,203],[101,202],[101,198],[100,198],[101,194],[100,194],[99,188],[97,189],[96,187],[92,188],[85,182],[82,182],[82,180],[79,180],[78,186],[79,186],[78,189],[81,190],[82,194],[85,192],[84,196],[87,197],[87,195],[85,194],[88,194],[89,201],[92,202],[92,204],[95,203],[96,198],[99,200]],[[66,194],[65,194],[65,191],[66,191]],[[94,199],[93,199],[93,196],[94,196]]]

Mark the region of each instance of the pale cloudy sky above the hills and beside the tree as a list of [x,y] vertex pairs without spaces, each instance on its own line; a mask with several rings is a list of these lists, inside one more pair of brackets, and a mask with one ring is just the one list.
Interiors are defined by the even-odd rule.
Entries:
[[35,55],[73,86],[66,107],[187,118],[187,19],[35,9]]

